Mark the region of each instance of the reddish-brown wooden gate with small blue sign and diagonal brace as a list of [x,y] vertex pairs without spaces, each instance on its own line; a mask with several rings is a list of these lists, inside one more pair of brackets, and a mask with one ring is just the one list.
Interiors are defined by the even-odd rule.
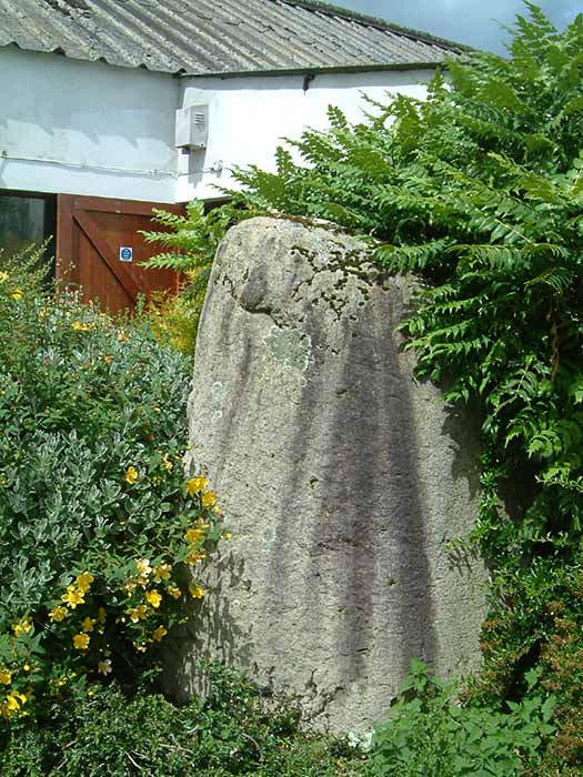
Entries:
[[118,313],[138,296],[177,291],[180,275],[148,270],[140,263],[160,251],[139,230],[153,225],[152,208],[183,213],[181,205],[60,194],[57,200],[57,281],[80,286],[86,302],[98,301]]

